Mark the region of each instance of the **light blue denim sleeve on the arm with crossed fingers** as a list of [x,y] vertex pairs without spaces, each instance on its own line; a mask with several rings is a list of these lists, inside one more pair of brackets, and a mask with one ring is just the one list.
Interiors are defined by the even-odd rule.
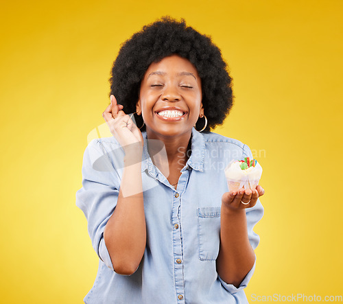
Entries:
[[76,205],[84,212],[92,246],[108,268],[113,264],[104,242],[105,226],[119,196],[120,173],[99,139],[88,143],[82,163],[82,188],[76,192]]

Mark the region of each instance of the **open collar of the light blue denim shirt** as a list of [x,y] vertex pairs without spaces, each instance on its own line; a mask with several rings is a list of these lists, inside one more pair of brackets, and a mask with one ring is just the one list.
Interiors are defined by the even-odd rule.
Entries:
[[[143,136],[143,155],[142,155],[142,172],[147,169],[149,174],[156,178],[157,170],[154,164],[152,163],[152,159],[150,158],[149,152],[147,152],[147,133],[145,131],[142,132]],[[203,172],[204,171],[204,150],[205,150],[205,142],[204,142],[204,135],[196,130],[196,128],[192,128],[192,135],[191,135],[191,156],[189,157],[186,165],[192,167],[193,169]]]

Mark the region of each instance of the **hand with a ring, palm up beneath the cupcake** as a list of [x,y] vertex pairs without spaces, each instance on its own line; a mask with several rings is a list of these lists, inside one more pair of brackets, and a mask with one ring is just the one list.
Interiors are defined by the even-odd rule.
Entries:
[[[258,185],[256,189],[238,189],[238,191],[229,191],[223,194],[222,204],[232,210],[246,209],[254,207],[257,198],[263,196],[264,189]],[[248,204],[243,204],[248,203]]]

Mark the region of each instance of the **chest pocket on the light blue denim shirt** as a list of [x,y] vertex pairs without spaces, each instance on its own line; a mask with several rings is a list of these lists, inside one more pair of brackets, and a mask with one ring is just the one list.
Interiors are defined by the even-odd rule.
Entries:
[[199,259],[217,259],[220,245],[220,207],[198,208]]

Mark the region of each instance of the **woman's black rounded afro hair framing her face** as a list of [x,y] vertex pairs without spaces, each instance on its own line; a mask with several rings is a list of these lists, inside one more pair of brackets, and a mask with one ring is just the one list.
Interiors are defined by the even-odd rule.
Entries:
[[[210,36],[200,34],[169,16],[145,25],[121,45],[113,62],[110,95],[115,95],[118,104],[126,113],[136,111],[141,81],[152,62],[159,62],[176,54],[188,59],[198,71],[202,82],[202,105],[207,118],[206,131],[223,124],[233,106],[232,78],[220,49]],[[135,115],[137,126],[143,125],[141,115]],[[198,119],[196,129],[204,127],[204,119]],[[145,126],[141,128],[145,130]]]

